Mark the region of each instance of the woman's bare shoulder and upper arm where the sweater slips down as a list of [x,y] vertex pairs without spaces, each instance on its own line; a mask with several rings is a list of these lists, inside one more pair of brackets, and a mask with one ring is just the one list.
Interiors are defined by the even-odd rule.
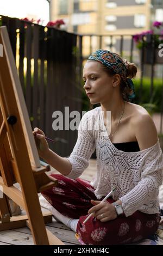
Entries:
[[140,150],[152,147],[158,141],[154,121],[145,108],[129,103],[131,111],[131,129],[135,133]]

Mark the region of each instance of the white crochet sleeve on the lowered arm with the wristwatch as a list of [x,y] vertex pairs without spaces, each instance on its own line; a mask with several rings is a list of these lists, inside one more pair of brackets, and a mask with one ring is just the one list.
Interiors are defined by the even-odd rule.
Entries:
[[124,214],[128,217],[135,211],[141,210],[146,212],[146,203],[153,202],[158,197],[159,186],[162,184],[162,167],[163,157],[162,151],[157,143],[143,157],[140,181],[126,195],[122,196],[122,207]]

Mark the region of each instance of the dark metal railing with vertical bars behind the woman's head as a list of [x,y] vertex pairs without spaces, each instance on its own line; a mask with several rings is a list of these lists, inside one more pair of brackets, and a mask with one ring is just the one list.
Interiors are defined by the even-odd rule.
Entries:
[[[99,49],[114,51],[120,54],[121,57],[126,58],[131,63],[135,63],[139,78],[139,87],[136,88],[136,97],[133,103],[147,106],[147,110],[154,112],[154,108],[159,112],[159,128],[158,132],[163,133],[162,127],[162,113],[163,113],[163,56],[159,57],[159,48],[155,47],[155,36],[157,35],[143,35],[142,47],[139,49],[136,46],[133,35],[78,35],[78,48],[80,59],[80,74],[82,76],[82,69],[85,60],[89,55]],[[85,43],[86,42],[86,43]],[[146,86],[148,80],[148,88]],[[161,84],[159,88],[154,87],[159,80]],[[148,92],[147,92],[148,89]],[[144,97],[143,94],[148,94]],[[156,99],[159,96],[159,99]],[[91,108],[91,107],[90,107]],[[158,123],[157,122],[157,123]]]

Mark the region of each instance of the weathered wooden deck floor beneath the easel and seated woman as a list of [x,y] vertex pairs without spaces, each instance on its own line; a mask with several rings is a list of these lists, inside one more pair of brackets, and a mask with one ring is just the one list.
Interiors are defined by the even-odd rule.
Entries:
[[[96,171],[96,160],[91,159],[89,167],[86,168],[81,178],[91,180]],[[58,173],[53,169],[53,172]],[[53,219],[52,223],[46,224],[46,227],[57,236],[65,245],[79,245],[80,243],[74,237],[74,232],[64,224],[58,223]],[[18,228],[0,232],[0,245],[33,245],[33,237],[30,229]]]

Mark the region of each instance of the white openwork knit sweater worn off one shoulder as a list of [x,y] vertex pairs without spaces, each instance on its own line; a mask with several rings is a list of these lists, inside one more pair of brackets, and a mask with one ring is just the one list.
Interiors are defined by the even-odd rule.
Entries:
[[[97,127],[98,122],[100,127]],[[109,139],[102,108],[97,107],[84,114],[80,121],[77,143],[68,157],[72,164],[69,178],[76,179],[83,173],[95,148],[97,171],[91,185],[96,189],[96,197],[101,199],[115,187],[113,198],[122,201],[126,216],[136,210],[158,213],[163,170],[159,141],[151,148],[137,152],[118,150]]]

